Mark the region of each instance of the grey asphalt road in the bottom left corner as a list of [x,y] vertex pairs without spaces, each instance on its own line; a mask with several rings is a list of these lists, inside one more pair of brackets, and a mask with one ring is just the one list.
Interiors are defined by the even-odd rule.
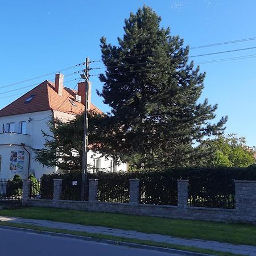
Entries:
[[3,256],[174,256],[177,254],[137,249],[76,238],[0,228],[0,255]]

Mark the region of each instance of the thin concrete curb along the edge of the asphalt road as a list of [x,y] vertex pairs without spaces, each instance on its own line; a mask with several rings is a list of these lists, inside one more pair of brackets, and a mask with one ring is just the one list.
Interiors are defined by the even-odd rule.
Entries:
[[[84,241],[101,242],[101,243],[107,243],[109,245],[127,246],[127,247],[133,247],[133,248],[138,248],[138,249],[161,251],[161,252],[170,253],[170,254],[175,253],[175,254],[184,255],[184,256],[212,256],[211,254],[193,253],[192,251],[183,251],[183,250],[157,247],[157,246],[151,246],[151,245],[140,245],[139,243],[118,242],[118,241],[107,240],[107,239],[102,239],[102,238],[76,236],[76,235],[72,235],[72,234],[55,233],[55,232],[48,232],[48,231],[41,231],[41,230],[34,230],[34,229],[16,228],[13,226],[1,226],[0,225],[0,229],[18,230],[18,231],[29,232],[29,233],[44,234],[44,235],[48,235],[48,236],[66,237],[66,238],[73,238],[73,239],[79,239],[79,240],[84,240]],[[122,237],[120,237],[120,238],[122,238]]]

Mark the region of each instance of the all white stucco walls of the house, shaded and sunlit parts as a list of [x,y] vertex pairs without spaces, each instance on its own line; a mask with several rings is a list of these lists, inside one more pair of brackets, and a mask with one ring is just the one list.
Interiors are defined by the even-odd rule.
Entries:
[[[75,117],[75,115],[58,112],[54,113],[54,116],[62,119],[63,121],[71,120]],[[9,115],[7,117],[0,117],[0,156],[1,157],[1,170],[0,170],[0,179],[11,179],[15,174],[18,174],[22,178],[26,178],[28,174],[28,153],[24,151],[21,143],[25,143],[25,147],[31,154],[30,160],[30,170],[29,172],[34,174],[36,178],[41,177],[43,174],[51,174],[56,172],[57,167],[48,167],[43,166],[34,160],[35,154],[32,150],[39,149],[44,147],[45,138],[42,135],[42,130],[46,133],[49,133],[49,127],[47,125],[48,121],[51,121],[52,111],[44,111],[44,112],[34,112],[27,114],[19,114],[19,115]],[[5,130],[7,129],[7,123],[15,123],[15,130],[13,134],[2,133],[3,125],[5,126]],[[26,122],[26,134],[16,134],[19,133],[19,122]],[[7,130],[6,130],[7,131]],[[10,170],[10,155],[12,151],[24,151],[24,163],[22,171]],[[94,158],[100,158],[99,154],[94,154],[92,151],[88,152],[88,164],[89,166],[93,166]],[[101,158],[101,166],[100,168],[105,169],[107,171],[110,170],[112,159],[106,159],[105,157]],[[121,163],[117,166],[117,171],[127,171],[127,164]],[[113,169],[112,169],[113,170]]]

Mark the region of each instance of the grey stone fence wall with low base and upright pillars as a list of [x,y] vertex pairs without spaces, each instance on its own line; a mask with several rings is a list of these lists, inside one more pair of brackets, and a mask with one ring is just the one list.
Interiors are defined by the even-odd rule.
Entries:
[[[23,204],[34,207],[54,207],[90,212],[110,212],[137,214],[144,216],[160,216],[185,218],[192,220],[209,220],[225,222],[250,222],[256,224],[256,181],[234,181],[236,185],[236,209],[204,208],[188,206],[188,181],[177,180],[178,203],[171,205],[139,204],[139,180],[130,180],[129,203],[104,203],[97,201],[98,180],[89,182],[88,201],[60,200],[61,181],[57,181],[54,200],[29,199],[30,182],[23,182]],[[56,184],[56,181],[55,181]],[[57,187],[57,188],[56,188]],[[30,189],[29,189],[30,191]],[[25,193],[24,193],[25,192]]]

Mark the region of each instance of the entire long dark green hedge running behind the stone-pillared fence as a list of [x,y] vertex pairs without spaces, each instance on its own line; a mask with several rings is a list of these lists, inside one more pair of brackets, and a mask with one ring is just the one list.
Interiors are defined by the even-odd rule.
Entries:
[[[52,198],[53,179],[63,179],[62,199],[80,200],[80,172],[43,175],[42,198]],[[234,208],[236,202],[233,180],[256,180],[256,167],[97,172],[88,174],[88,179],[98,179],[99,201],[115,203],[128,203],[129,179],[139,179],[141,203],[160,205],[177,205],[177,179],[188,179],[189,204],[191,206]],[[76,186],[72,185],[73,180],[77,181]]]

